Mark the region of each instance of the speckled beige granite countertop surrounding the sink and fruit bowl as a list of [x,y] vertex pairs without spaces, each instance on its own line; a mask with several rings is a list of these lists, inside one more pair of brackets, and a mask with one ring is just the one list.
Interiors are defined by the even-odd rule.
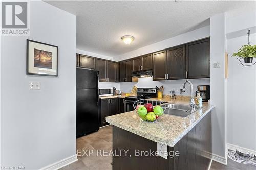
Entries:
[[[188,104],[187,99],[171,100],[170,98],[152,98],[150,100],[158,100],[175,104]],[[116,114],[106,117],[106,122],[137,134],[146,139],[150,139],[154,142],[166,144],[170,147],[174,147],[180,139],[185,136],[200,120],[207,115],[214,105],[210,105],[208,102],[203,102],[203,107],[196,112],[192,113],[188,117],[178,117],[168,114],[163,114],[158,122],[143,122],[137,115],[136,111],[130,111],[126,113]]]

